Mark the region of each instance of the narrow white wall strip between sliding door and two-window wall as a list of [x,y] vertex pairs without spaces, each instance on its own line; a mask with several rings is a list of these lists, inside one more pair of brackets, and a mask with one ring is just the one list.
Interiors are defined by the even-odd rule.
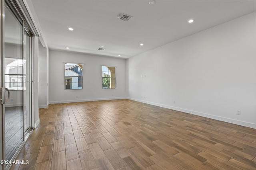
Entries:
[[48,63],[47,63],[47,48],[44,48],[42,44],[39,45],[39,108],[47,108],[48,107],[48,82],[47,82],[47,74],[48,74]]

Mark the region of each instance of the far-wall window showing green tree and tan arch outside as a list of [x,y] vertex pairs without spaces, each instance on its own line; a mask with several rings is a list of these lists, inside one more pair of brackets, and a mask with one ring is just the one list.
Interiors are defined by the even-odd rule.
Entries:
[[102,89],[116,88],[116,67],[102,66]]

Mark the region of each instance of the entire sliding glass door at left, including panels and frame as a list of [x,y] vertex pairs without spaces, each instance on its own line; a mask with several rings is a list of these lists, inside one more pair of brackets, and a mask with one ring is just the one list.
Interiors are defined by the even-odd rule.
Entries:
[[[2,2],[1,54],[1,160],[13,161],[32,129],[32,38],[20,13],[9,1]],[[4,11],[4,13],[3,13]],[[2,162],[1,169],[10,164]]]

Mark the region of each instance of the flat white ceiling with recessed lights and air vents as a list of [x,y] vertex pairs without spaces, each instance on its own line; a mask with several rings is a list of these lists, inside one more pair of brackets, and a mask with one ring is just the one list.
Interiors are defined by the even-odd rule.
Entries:
[[[120,58],[144,53],[256,11],[255,0],[156,0],[154,5],[149,0],[32,3],[50,49],[121,55]],[[122,21],[117,18],[120,13],[133,17]],[[194,23],[188,23],[189,19],[194,19]],[[99,51],[102,45],[106,50]]]

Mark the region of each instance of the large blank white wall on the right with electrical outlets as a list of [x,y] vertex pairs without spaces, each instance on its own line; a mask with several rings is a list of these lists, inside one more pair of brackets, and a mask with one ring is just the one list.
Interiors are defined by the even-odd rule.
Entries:
[[128,59],[128,98],[256,129],[255,16]]

